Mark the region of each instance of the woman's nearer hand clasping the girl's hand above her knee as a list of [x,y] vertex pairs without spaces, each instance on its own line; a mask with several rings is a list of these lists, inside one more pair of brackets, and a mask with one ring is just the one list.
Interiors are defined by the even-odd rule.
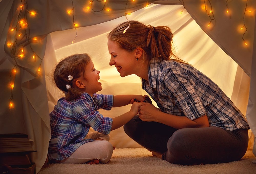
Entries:
[[139,108],[139,117],[145,122],[157,122],[159,109],[150,103],[144,103]]

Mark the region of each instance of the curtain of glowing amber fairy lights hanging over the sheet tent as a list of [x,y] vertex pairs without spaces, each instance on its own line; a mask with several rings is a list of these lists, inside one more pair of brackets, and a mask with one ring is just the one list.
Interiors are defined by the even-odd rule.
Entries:
[[[37,53],[33,50],[33,47],[31,46],[31,43],[35,43],[37,40],[40,40],[40,38],[39,37],[30,38],[30,28],[29,28],[29,24],[28,24],[28,21],[27,21],[28,15],[30,15],[30,17],[34,17],[34,16],[37,15],[37,13],[35,11],[32,11],[32,10],[28,9],[27,0],[20,0],[20,1],[21,1],[21,3],[18,7],[19,14],[18,14],[18,17],[17,17],[17,23],[15,24],[14,27],[10,26],[10,33],[12,33],[14,39],[13,39],[13,41],[6,42],[7,47],[10,48],[10,55],[12,56],[12,58],[15,61],[15,65],[12,68],[12,70],[10,72],[10,77],[9,77],[9,87],[10,87],[10,92],[11,92],[11,96],[10,96],[10,99],[9,99],[9,108],[14,108],[14,103],[12,102],[12,100],[13,100],[13,89],[15,87],[15,85],[14,85],[15,74],[17,73],[16,68],[18,66],[17,59],[24,59],[25,57],[27,57],[26,52],[30,51],[30,55],[32,53],[32,56],[31,56],[30,59],[32,59],[34,61],[36,61],[36,59],[37,59],[37,60],[40,61],[37,72],[40,71],[40,67],[41,67],[41,63],[42,63],[42,59],[37,55]],[[131,13],[128,13],[126,11],[127,10],[127,4],[129,2],[133,3],[135,1],[136,0],[126,0],[124,15],[125,15],[128,23],[129,23],[129,20],[128,20],[126,15],[131,15]],[[226,13],[227,14],[229,14],[229,12],[230,12],[230,9],[228,8],[228,3],[229,3],[228,1],[229,0],[227,0],[226,3],[225,3],[226,7],[227,7],[226,8]],[[181,2],[182,2],[182,5],[183,5],[184,8],[180,12],[180,14],[182,14],[182,12],[185,10],[184,1],[182,0]],[[73,22],[73,25],[74,25],[74,29],[76,31],[76,36],[71,42],[71,44],[73,44],[75,39],[78,36],[77,27],[79,26],[79,24],[75,22],[75,18],[74,18],[75,9],[74,9],[73,0],[71,0],[71,3],[72,3],[72,9],[67,10],[67,14],[68,15],[73,15],[73,18],[72,18],[73,21],[72,22]],[[94,9],[94,7],[93,7],[94,3],[102,3],[102,8],[99,9],[99,10]],[[244,41],[245,45],[248,45],[246,40],[244,39],[245,33],[247,32],[247,27],[246,27],[246,24],[245,24],[245,17],[246,17],[247,12],[251,13],[251,10],[247,9],[247,4],[248,4],[248,0],[246,0],[245,10],[244,10],[244,14],[243,14],[243,26],[240,28],[240,30],[244,30],[243,35],[242,35],[242,40]],[[145,7],[147,7],[148,5],[149,5],[148,0],[145,0]],[[88,11],[92,10],[93,12],[101,12],[102,10],[105,10],[106,12],[110,12],[111,9],[106,8],[106,6],[107,6],[107,0],[90,0],[89,5],[86,6],[85,8]],[[211,4],[210,0],[204,0],[204,3],[201,6],[210,18],[210,22],[207,25],[209,27],[212,24],[212,21],[215,20],[214,12],[212,10],[212,4]],[[127,26],[127,28],[124,30],[124,33],[129,27],[130,27],[130,23]],[[26,49],[27,48],[29,48],[29,49],[25,50],[25,47],[26,47]],[[27,54],[27,55],[29,55],[29,54]]]

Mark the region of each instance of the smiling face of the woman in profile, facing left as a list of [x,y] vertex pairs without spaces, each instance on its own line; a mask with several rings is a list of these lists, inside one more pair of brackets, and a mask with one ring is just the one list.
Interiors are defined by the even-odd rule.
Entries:
[[135,73],[134,67],[136,65],[135,51],[128,52],[121,49],[114,41],[108,40],[109,53],[111,55],[109,64],[114,65],[121,77]]

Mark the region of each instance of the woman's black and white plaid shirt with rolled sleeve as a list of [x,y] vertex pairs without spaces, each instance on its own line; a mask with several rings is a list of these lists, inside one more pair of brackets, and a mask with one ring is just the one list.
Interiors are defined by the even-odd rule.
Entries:
[[249,129],[243,114],[218,85],[189,64],[152,60],[142,88],[165,113],[191,120],[206,114],[210,126]]

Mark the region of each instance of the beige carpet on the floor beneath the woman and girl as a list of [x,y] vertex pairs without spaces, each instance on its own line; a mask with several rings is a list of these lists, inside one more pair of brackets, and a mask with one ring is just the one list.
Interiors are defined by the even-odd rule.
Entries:
[[106,173],[221,173],[221,174],[256,174],[256,160],[251,150],[240,161],[225,164],[207,164],[198,166],[181,166],[156,158],[144,148],[115,149],[107,164],[52,164],[42,168],[38,174],[106,174]]

